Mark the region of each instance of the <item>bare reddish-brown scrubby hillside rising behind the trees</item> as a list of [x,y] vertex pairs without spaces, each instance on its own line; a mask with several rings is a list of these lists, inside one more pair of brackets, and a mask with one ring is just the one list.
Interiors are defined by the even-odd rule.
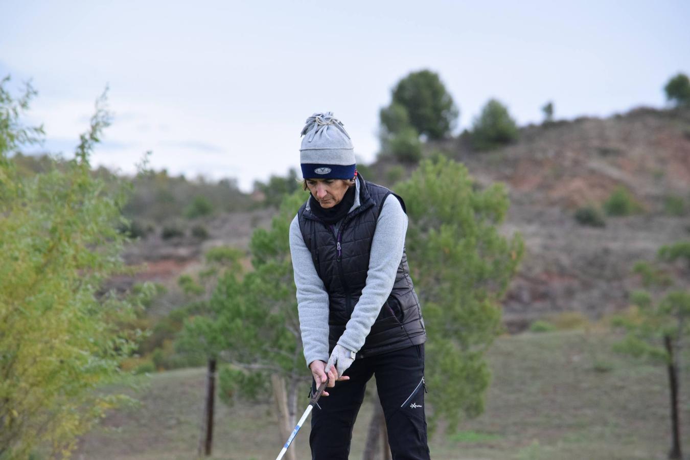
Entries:
[[[426,147],[465,163],[479,183],[502,181],[509,190],[503,231],[519,231],[526,242],[524,263],[504,301],[511,330],[552,312],[595,318],[625,308],[633,262],[690,238],[690,110],[638,108],[607,119],[527,126],[520,141],[491,152],[474,152],[466,136]],[[382,158],[368,170],[391,185],[393,168],[400,170]],[[601,204],[618,186],[640,203],[638,214],[609,217],[602,228],[575,221],[575,210]],[[664,211],[671,196],[684,203],[680,215]],[[203,242],[150,236],[130,248],[128,259],[148,262],[141,278],[168,285],[172,306],[179,297],[175,279],[198,268],[204,248],[246,247],[253,226],[269,221],[268,210],[223,214],[206,222],[209,239]]]

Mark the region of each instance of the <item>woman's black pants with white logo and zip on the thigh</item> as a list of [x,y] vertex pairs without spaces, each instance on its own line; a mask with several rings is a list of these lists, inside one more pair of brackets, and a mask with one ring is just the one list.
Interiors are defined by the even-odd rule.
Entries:
[[[350,380],[328,388],[329,396],[320,398],[311,412],[309,445],[313,460],[348,458],[364,388],[374,374],[393,460],[429,459],[424,415],[424,345],[417,345],[355,359],[345,371]],[[314,381],[312,388],[316,390]]]

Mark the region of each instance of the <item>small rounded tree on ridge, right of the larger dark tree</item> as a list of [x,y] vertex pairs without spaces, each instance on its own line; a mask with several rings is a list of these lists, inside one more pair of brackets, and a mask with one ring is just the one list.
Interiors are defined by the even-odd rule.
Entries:
[[477,150],[490,150],[517,139],[517,125],[508,108],[496,99],[490,99],[475,118],[472,143]]

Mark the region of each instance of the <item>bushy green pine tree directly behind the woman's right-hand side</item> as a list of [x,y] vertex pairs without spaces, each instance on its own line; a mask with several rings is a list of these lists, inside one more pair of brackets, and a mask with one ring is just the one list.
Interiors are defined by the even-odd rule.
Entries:
[[484,353],[502,332],[500,301],[524,243],[520,234],[499,233],[509,207],[504,186],[477,190],[462,164],[441,155],[395,191],[406,203],[407,254],[429,337],[430,427],[444,418],[454,430],[484,410]]

